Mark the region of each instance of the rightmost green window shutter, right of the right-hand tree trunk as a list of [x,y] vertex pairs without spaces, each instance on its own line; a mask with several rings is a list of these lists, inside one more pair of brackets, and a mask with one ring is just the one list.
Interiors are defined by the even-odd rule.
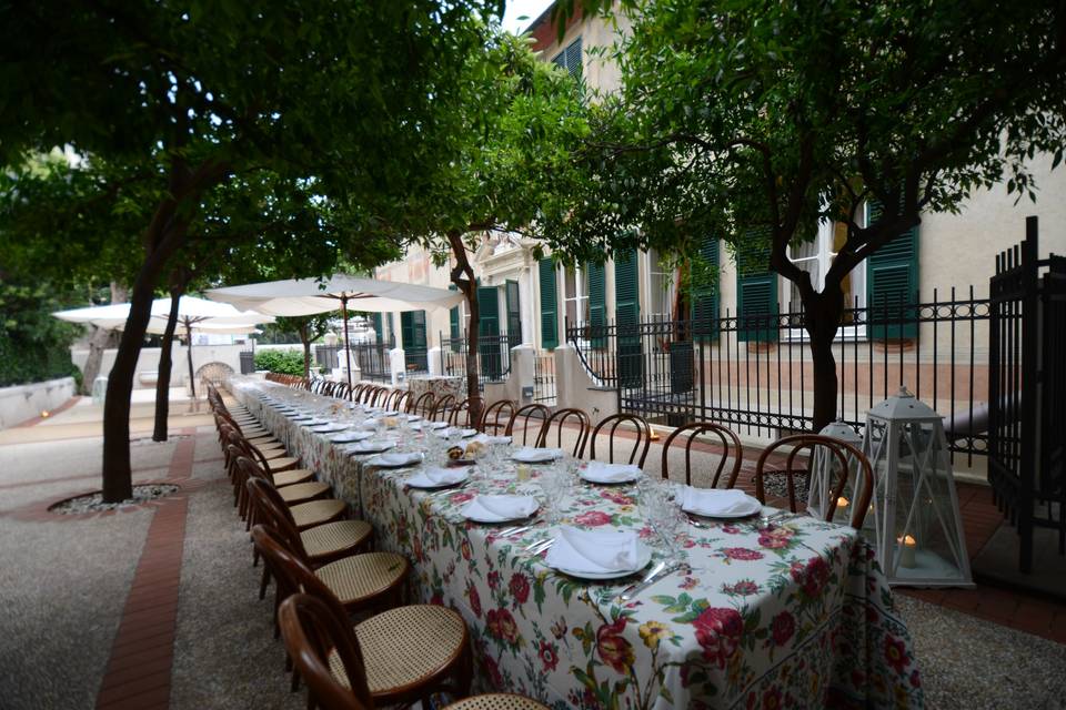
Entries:
[[[869,205],[869,223],[881,219],[877,202]],[[918,336],[912,306],[918,294],[918,227],[907,230],[866,260],[867,336],[875,339]]]

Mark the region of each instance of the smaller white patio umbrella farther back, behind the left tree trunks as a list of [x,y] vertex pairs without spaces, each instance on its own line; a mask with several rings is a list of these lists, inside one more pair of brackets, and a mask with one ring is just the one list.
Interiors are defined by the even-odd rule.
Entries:
[[[148,332],[161,334],[167,329],[167,321],[170,318],[170,298],[157,298],[152,302],[151,316],[148,322]],[[117,303],[108,306],[89,306],[86,308],[71,308],[69,311],[57,311],[52,314],[61,321],[71,323],[86,323],[99,328],[109,331],[121,331],[125,327],[127,318],[130,315],[129,303]],[[254,311],[239,311],[228,303],[197,298],[195,296],[181,296],[178,302],[178,323],[184,326],[185,339],[189,344],[187,355],[189,359],[189,387],[192,389],[192,396],[197,396],[197,386],[193,382],[192,371],[192,333],[193,331],[202,333],[252,333],[255,325],[260,323],[273,323],[274,317],[257,313]]]

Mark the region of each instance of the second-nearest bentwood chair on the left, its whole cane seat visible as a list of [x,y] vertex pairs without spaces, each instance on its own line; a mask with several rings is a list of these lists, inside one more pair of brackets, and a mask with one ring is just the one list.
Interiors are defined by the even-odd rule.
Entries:
[[[460,696],[469,692],[470,637],[466,625],[457,612],[439,605],[402,606],[376,613],[360,621],[352,629],[336,596],[306,565],[285,549],[276,534],[257,525],[252,529],[252,540],[271,565],[274,577],[283,580],[279,584],[279,589],[284,585],[292,595],[310,595],[330,610],[333,619],[331,628],[351,629],[355,638],[352,646],[361,651],[360,656],[354,658],[361,660],[362,673],[356,666],[349,666],[351,658],[348,662],[342,659],[340,653],[346,651],[339,651],[335,641],[319,646],[315,657],[329,677],[341,688],[359,686],[360,678],[363,678],[365,696],[369,696],[372,702],[365,707],[421,701],[423,708],[429,708],[432,707],[429,702],[430,696],[434,692],[453,690]],[[292,596],[285,595],[282,606]],[[309,602],[301,598],[292,604],[305,606]],[[280,615],[279,608],[279,625],[283,623]],[[286,626],[292,631],[293,625]],[[284,630],[282,633],[284,635]],[[324,673],[313,674],[301,668],[301,660],[305,660],[306,655],[299,648],[290,649],[290,656],[309,684],[324,680]],[[316,688],[312,684],[311,688],[314,701],[325,703],[332,698],[320,694],[321,686]]]

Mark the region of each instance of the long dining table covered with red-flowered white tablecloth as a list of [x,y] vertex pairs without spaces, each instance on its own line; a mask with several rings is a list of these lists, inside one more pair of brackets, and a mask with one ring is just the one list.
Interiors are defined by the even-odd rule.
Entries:
[[[765,516],[780,513],[771,508],[747,519],[688,525],[677,536],[687,566],[623,601],[621,592],[638,576],[589,581],[547,566],[533,547],[552,535],[541,517],[493,526],[462,515],[477,494],[543,499],[540,477],[562,464],[525,468],[497,453],[461,486],[415,489],[406,484],[412,475],[444,463],[429,426],[416,430],[402,416],[382,418],[250,377],[234,376],[229,385],[373,525],[380,549],[412,561],[414,599],[463,615],[485,689],[560,709],[924,706],[906,623],[872,546],[851,527],[806,516],[771,523]],[[425,463],[378,466],[376,455],[353,454],[351,444],[331,440],[333,433],[293,420],[291,412],[301,408],[351,429],[379,422],[376,437],[394,442],[396,452],[428,452]],[[575,485],[555,503],[562,521],[574,527],[655,537],[640,486]],[[653,562],[671,555],[653,549]]]

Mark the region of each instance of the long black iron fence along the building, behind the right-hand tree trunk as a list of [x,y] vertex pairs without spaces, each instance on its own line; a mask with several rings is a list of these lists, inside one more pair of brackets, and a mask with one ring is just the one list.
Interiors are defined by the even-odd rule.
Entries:
[[[987,452],[988,300],[952,288],[928,302],[844,312],[833,345],[837,413],[862,430],[865,413],[906,385],[945,415],[953,455]],[[680,426],[727,424],[774,438],[808,430],[814,368],[800,307],[706,321],[566,326],[585,367],[619,393],[623,412]]]

